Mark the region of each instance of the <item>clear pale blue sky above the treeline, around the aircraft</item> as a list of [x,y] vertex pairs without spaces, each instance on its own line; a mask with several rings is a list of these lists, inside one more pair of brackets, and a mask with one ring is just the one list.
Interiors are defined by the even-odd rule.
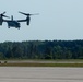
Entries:
[[39,13],[32,16],[31,25],[21,28],[0,26],[0,42],[12,40],[73,40],[83,39],[83,0],[0,0],[0,13],[26,19],[19,11]]

